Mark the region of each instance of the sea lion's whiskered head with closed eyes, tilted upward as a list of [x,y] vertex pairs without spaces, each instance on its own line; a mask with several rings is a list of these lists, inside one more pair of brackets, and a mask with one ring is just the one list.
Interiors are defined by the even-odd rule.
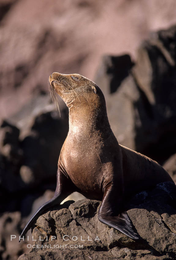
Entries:
[[54,101],[57,93],[68,107],[79,103],[90,104],[93,101],[98,104],[103,96],[95,82],[79,74],[53,72],[49,77],[49,83]]

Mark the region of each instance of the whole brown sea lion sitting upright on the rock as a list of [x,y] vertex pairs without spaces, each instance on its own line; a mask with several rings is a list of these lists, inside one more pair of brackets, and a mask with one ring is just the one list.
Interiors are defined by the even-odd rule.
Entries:
[[99,221],[138,239],[127,212],[123,212],[124,198],[173,180],[157,162],[118,144],[104,95],[93,81],[79,74],[54,72],[49,82],[52,95],[56,91],[69,107],[69,132],[58,160],[54,197],[37,210],[21,236],[40,215],[78,191],[88,199],[102,201]]

